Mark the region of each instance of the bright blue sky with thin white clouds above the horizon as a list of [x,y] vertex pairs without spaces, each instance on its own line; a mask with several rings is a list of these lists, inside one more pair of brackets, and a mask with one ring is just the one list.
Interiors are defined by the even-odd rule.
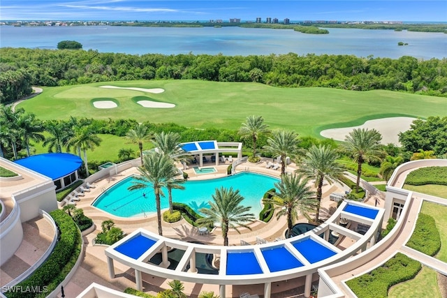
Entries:
[[0,20],[370,20],[447,22],[447,1],[1,0]]

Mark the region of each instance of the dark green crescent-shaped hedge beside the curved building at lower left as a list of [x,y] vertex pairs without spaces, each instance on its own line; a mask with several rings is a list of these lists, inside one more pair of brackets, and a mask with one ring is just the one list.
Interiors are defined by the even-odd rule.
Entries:
[[56,246],[47,260],[34,273],[17,287],[22,289],[38,288],[41,293],[6,292],[6,297],[46,297],[55,290],[78,260],[81,251],[81,235],[75,222],[62,210],[54,210],[50,215],[56,222],[60,234]]

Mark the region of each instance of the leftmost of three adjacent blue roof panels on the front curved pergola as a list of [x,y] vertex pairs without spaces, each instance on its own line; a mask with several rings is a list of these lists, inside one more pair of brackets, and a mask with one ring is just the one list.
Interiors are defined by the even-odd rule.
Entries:
[[226,275],[261,274],[256,255],[253,251],[230,252],[226,254]]

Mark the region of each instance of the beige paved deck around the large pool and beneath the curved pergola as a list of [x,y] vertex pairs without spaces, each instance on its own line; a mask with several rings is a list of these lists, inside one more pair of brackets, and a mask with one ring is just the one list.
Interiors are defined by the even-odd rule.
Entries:
[[[217,172],[212,174],[194,174],[193,166],[191,165],[186,172],[189,172],[189,179],[211,179],[217,177],[225,177],[226,169],[230,163],[219,163],[218,166],[214,163],[210,163],[213,167],[216,167]],[[206,164],[204,165],[207,166]],[[294,164],[288,165],[287,172],[293,172],[297,167]],[[269,174],[273,177],[279,177],[280,170],[267,169],[265,167],[265,161],[262,163],[242,163],[236,167],[236,172],[257,172],[261,174]],[[106,219],[112,219],[115,221],[117,227],[122,228],[124,232],[130,233],[137,228],[145,228],[146,230],[157,233],[156,227],[156,215],[150,215],[139,218],[118,218],[116,216],[110,216],[104,211],[91,207],[91,203],[100,195],[106,188],[112,186],[118,181],[129,177],[131,174],[138,174],[136,167],[131,167],[129,170],[124,170],[118,174],[101,179],[95,182],[96,188],[92,188],[89,193],[85,193],[85,197],[78,202],[77,207],[84,209],[85,215],[91,217],[96,225],[96,231],[88,234],[85,239],[85,257],[82,265],[78,268],[71,281],[64,287],[66,295],[75,297],[80,294],[82,290],[87,288],[91,282],[100,283],[101,285],[108,286],[115,290],[124,290],[127,287],[135,288],[135,276],[133,269],[129,269],[124,265],[115,262],[115,269],[117,277],[110,279],[107,271],[107,263],[105,257],[106,246],[94,246],[92,245],[94,237],[97,232],[100,232],[101,223]],[[325,218],[330,215],[330,212],[335,209],[337,203],[329,199],[329,195],[332,192],[337,192],[337,186],[325,185],[323,187],[323,200],[321,207],[321,217]],[[374,205],[374,200],[372,200]],[[300,218],[298,222],[307,222],[305,218]],[[284,238],[284,231],[286,230],[286,218],[282,217],[279,220],[273,218],[270,223],[263,223],[256,221],[251,225],[252,230],[241,229],[241,234],[237,234],[234,230],[230,230],[228,233],[230,246],[240,245],[240,241],[247,241],[251,244],[256,244],[257,239],[265,239],[266,241],[274,241],[277,238]],[[189,223],[186,223],[182,219],[177,223],[164,223],[163,222],[163,236],[173,239],[181,239],[184,241],[201,241],[210,245],[221,245],[223,239],[221,237],[221,231],[216,228],[210,234],[200,235],[196,228],[193,228]],[[339,248],[345,249],[353,244],[353,240],[344,239],[339,243]],[[314,276],[316,281],[318,275]],[[166,278],[159,278],[157,276],[149,276],[149,274],[143,274],[143,286],[145,292],[156,295],[156,292],[160,292],[166,288],[169,288],[168,282],[170,280]],[[304,278],[295,278],[293,281],[283,281],[279,283],[272,283],[272,297],[304,297]],[[184,283],[185,293],[189,297],[197,297],[199,292],[203,290],[211,290],[214,293],[219,293],[219,285],[202,285],[196,283]],[[227,285],[227,295],[233,295],[233,297],[239,297],[241,292],[258,292],[258,285]]]

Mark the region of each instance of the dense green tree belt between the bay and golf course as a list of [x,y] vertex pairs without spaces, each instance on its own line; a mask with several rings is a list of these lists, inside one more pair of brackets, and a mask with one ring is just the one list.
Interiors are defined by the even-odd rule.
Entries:
[[447,59],[353,55],[122,54],[96,50],[0,49],[0,103],[31,93],[30,86],[117,80],[259,82],[276,87],[386,89],[447,96]]

